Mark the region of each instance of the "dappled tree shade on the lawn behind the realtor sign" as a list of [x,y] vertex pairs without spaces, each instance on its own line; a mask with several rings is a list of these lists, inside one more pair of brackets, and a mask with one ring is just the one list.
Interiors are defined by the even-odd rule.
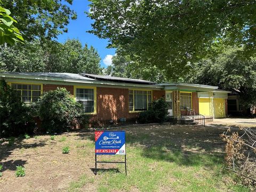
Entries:
[[[126,143],[142,148],[141,156],[185,166],[215,166],[224,162],[225,143],[218,127],[145,126],[126,129]],[[94,141],[94,132],[78,133]]]

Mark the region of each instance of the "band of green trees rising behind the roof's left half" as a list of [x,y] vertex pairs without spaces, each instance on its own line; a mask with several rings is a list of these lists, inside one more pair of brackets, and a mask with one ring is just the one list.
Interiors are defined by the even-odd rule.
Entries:
[[22,46],[0,47],[0,70],[7,72],[55,72],[101,74],[100,56],[78,39],[65,43],[35,40]]

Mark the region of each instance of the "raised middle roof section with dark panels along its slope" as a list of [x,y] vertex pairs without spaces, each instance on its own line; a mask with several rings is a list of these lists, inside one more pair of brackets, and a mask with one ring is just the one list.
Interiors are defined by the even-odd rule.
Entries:
[[114,81],[114,82],[126,82],[126,83],[138,83],[138,84],[156,84],[155,82],[145,81],[141,79],[112,77],[112,76],[105,76],[105,75],[92,75],[92,74],[84,74],[84,73],[81,73],[81,75],[88,78],[101,80],[101,81]]

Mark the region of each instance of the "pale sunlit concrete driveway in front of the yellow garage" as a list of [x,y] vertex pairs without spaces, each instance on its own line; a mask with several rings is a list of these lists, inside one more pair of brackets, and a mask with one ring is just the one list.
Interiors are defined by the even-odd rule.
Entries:
[[256,127],[256,118],[215,118],[207,125]]

